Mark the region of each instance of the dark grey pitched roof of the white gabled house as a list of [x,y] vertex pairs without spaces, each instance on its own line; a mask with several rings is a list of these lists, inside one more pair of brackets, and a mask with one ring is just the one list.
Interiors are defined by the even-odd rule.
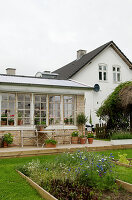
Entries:
[[57,79],[70,79],[74,74],[76,74],[86,64],[90,63],[92,59],[94,59],[99,53],[101,53],[105,48],[110,45],[112,45],[112,47],[115,47],[115,49],[122,55],[122,58],[125,60],[125,62],[128,63],[129,67],[132,68],[132,63],[129,61],[129,59],[122,53],[122,51],[116,46],[113,41],[110,41],[98,47],[97,49],[83,55],[80,59],[74,60],[73,62],[55,70],[54,73],[59,74]]

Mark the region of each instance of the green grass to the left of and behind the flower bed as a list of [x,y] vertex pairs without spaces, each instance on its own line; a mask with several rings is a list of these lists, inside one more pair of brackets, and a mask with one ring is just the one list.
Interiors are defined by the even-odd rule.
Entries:
[[18,164],[25,164],[32,159],[42,162],[51,160],[52,156],[35,156],[26,158],[0,159],[0,200],[42,200],[36,190],[15,171]]

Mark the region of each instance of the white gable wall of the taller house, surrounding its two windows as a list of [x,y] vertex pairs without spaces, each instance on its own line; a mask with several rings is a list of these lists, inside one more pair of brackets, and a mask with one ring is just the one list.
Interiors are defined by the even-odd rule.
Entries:
[[[107,64],[107,81],[99,81],[98,65],[101,63]],[[91,111],[93,124],[99,123],[96,110],[101,106],[108,95],[121,83],[115,83],[113,81],[113,65],[119,65],[121,67],[121,82],[132,81],[132,70],[112,47],[105,49],[90,64],[87,64],[71,78],[72,80],[85,83],[89,86],[94,86],[95,84],[99,84],[100,86],[99,92],[85,92],[85,114],[89,117]]]

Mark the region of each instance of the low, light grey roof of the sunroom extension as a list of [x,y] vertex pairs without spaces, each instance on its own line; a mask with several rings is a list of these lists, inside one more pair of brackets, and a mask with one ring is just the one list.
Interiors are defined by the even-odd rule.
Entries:
[[30,86],[44,86],[44,87],[68,87],[78,89],[93,89],[85,84],[77,83],[71,80],[55,80],[43,79],[29,76],[15,76],[15,75],[0,75],[1,84],[15,84],[15,85],[30,85]]

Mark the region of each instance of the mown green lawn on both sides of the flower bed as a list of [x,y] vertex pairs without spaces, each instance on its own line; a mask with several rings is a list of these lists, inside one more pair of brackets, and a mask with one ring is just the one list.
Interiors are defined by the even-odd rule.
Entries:
[[[118,152],[120,152],[120,154],[126,153],[128,158],[132,158],[132,149],[109,150],[97,153],[112,153],[115,159],[117,159]],[[32,189],[32,187],[30,187],[19,174],[17,174],[15,168],[19,164],[24,165],[25,163],[36,159],[39,159],[42,163],[52,161],[56,156],[58,155],[0,159],[0,200],[41,200],[42,198],[37,194],[37,192]],[[126,169],[120,166],[118,166],[118,168],[119,178],[131,182],[132,169]],[[128,174],[128,176],[126,176],[126,174]]]

